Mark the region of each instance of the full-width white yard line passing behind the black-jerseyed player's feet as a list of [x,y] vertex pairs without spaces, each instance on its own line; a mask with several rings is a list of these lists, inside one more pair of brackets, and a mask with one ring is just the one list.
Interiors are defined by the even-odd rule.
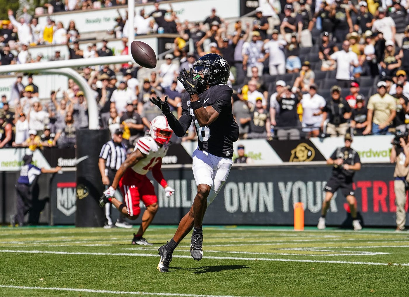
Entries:
[[[138,254],[138,253],[103,253],[103,252],[57,252],[57,251],[41,251],[41,250],[0,250],[0,252],[11,253],[27,253],[27,254],[56,254],[56,255],[96,255],[96,256],[132,256],[132,257],[158,257],[155,254]],[[176,258],[191,258],[187,255],[174,255]],[[245,257],[203,257],[205,259],[216,260],[243,260],[243,261],[279,261],[279,262],[303,262],[303,263],[331,263],[331,264],[366,264],[366,265],[394,265],[394,266],[409,266],[409,263],[379,263],[379,262],[362,262],[362,261],[322,261],[322,260],[308,260],[308,259],[269,259],[269,258],[245,258]]]

